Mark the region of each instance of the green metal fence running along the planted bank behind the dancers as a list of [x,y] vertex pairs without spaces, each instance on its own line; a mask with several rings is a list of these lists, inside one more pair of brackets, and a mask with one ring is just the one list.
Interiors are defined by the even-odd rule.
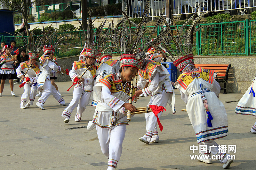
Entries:
[[[194,55],[256,54],[256,20],[246,19],[244,21],[200,24],[198,26],[206,25],[209,25],[210,27],[204,28],[202,31],[198,31],[193,36],[192,49]],[[177,27],[178,29],[180,28],[180,26]],[[189,26],[184,29],[184,32],[186,32],[188,27]],[[153,28],[154,26],[148,26],[148,33],[150,33]],[[176,37],[176,29],[174,26],[171,26],[171,28],[173,36]],[[135,27],[132,27],[132,29],[135,29]],[[153,37],[156,37],[160,31],[160,27],[158,27]],[[56,40],[58,37],[63,35],[72,35],[72,37],[68,38],[66,41],[72,45],[70,47],[60,46],[56,50],[56,55],[59,57],[79,55],[85,43],[83,31],[58,33]],[[147,36],[147,34],[145,36]],[[10,41],[15,40],[17,47],[25,45],[21,40],[14,36],[2,35],[0,38],[1,41],[4,40],[7,44],[10,44]],[[169,44],[173,50],[176,51],[176,46],[173,44],[173,41],[170,41]]]

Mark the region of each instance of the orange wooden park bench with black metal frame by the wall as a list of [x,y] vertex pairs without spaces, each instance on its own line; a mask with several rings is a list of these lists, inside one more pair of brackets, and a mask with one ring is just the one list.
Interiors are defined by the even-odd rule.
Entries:
[[227,81],[228,81],[228,71],[231,67],[230,64],[195,64],[196,67],[203,67],[204,69],[214,70],[217,74],[215,80],[218,83],[224,83],[224,87],[220,90],[224,90],[223,94],[227,94]]

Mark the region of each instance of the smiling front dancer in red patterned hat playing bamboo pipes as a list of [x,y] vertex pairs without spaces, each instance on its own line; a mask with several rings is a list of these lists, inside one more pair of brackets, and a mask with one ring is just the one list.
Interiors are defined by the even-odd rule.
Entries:
[[128,103],[130,81],[139,69],[139,62],[134,59],[134,56],[121,55],[121,72],[118,71],[100,79],[93,87],[99,100],[93,123],[96,124],[101,151],[108,158],[108,170],[114,170],[121,157],[122,143],[126,125],[128,125],[127,116],[123,114],[124,108],[131,112],[136,111],[135,107]]

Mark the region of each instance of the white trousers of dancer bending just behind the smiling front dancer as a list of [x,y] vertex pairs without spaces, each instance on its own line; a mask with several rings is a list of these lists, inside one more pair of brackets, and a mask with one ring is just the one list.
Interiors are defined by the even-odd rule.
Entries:
[[[160,94],[155,95],[154,97],[151,96],[150,101],[148,103],[149,105],[156,105],[156,106],[163,106],[166,107],[169,101],[169,97],[172,95],[172,93],[166,93],[163,91]],[[157,114],[158,118],[161,117],[163,112],[160,112]],[[158,133],[157,133],[157,119],[156,116],[153,112],[150,113],[145,113],[145,118],[146,118],[146,134],[143,137],[146,137],[147,141],[150,142],[152,136],[155,136],[154,138],[158,138]]]

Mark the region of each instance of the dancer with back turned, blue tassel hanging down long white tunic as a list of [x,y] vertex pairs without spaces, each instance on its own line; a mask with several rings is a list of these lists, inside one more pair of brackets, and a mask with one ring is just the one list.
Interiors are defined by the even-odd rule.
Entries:
[[[214,141],[228,135],[228,117],[224,105],[218,99],[220,85],[214,79],[214,71],[195,68],[193,54],[186,55],[173,63],[181,72],[175,87],[180,90],[181,99],[187,103],[188,117],[196,133],[197,143],[207,145],[209,159],[198,159],[212,163],[211,154],[220,155],[223,168],[228,168],[233,160],[227,153],[219,153]],[[210,146],[215,146],[211,147]]]

